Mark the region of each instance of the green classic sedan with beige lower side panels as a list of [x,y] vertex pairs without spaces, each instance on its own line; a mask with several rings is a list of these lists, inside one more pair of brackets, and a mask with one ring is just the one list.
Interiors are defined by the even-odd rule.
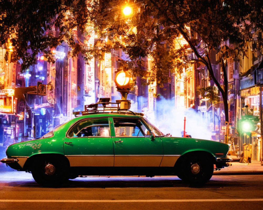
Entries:
[[42,186],[61,186],[79,175],[177,175],[203,184],[229,166],[224,143],[164,135],[131,111],[82,112],[43,137],[8,146],[1,162],[31,172]]

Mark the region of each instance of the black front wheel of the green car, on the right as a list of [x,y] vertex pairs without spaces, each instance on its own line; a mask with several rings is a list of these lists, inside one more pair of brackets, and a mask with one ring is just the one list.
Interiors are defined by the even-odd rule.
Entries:
[[214,164],[209,156],[187,155],[177,165],[177,176],[185,183],[203,185],[213,176]]

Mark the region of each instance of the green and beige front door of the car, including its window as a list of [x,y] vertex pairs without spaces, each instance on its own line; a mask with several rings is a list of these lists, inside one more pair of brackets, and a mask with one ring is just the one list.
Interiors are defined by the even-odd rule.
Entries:
[[[163,143],[160,138],[152,140],[149,129],[140,118],[112,118],[114,124],[114,166],[160,166]],[[113,132],[112,132],[113,133]]]

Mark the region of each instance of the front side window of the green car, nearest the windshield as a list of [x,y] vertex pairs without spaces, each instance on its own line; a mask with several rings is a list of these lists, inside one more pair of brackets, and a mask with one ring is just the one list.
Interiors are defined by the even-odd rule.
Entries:
[[113,118],[116,137],[144,137],[145,125],[138,118]]

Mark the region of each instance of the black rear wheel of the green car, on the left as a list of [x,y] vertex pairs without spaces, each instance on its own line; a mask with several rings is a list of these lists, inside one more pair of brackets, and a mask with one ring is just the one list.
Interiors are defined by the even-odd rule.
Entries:
[[36,159],[31,172],[34,180],[43,187],[60,187],[69,179],[69,166],[58,157]]

